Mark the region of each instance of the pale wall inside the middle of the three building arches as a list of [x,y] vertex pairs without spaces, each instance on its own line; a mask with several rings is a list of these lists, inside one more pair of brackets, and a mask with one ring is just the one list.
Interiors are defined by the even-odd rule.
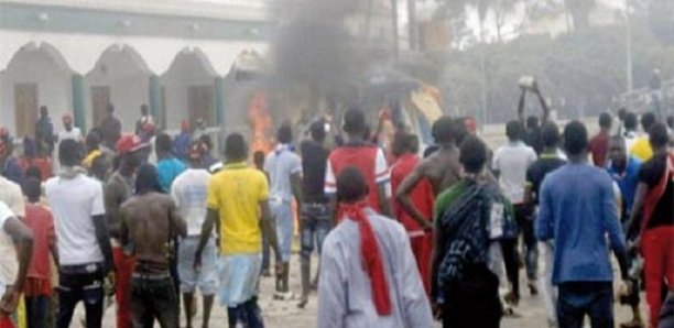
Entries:
[[140,106],[150,102],[150,75],[139,67],[126,52],[106,52],[94,69],[85,77],[85,108],[87,127],[98,125],[94,122],[91,102],[93,86],[109,86],[110,102],[115,113],[122,123],[123,132],[133,132],[135,120],[140,117]]

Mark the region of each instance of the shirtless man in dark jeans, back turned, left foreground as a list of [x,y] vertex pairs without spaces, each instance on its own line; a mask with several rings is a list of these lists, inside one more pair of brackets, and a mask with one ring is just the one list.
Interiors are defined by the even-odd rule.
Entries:
[[127,255],[135,256],[131,278],[131,321],[133,327],[178,327],[178,300],[170,273],[170,252],[176,234],[185,237],[187,226],[175,203],[161,194],[156,170],[140,167],[135,195],[120,209],[121,242]]

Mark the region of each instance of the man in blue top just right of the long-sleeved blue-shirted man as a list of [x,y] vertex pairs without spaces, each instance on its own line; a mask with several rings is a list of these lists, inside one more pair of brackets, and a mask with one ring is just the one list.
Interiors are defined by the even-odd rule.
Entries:
[[[639,168],[641,167],[641,161],[637,157],[631,156],[627,152],[624,145],[624,139],[620,135],[613,135],[609,140],[608,146],[608,160],[606,171],[611,175],[613,182],[620,188],[620,195],[622,196],[622,208],[621,208],[621,220],[626,223],[632,212],[632,205],[634,204],[634,195],[637,194],[637,186],[639,185]],[[624,225],[627,226],[627,225]],[[628,240],[637,238],[638,231],[624,231]],[[630,254],[630,262],[634,261],[637,254]],[[641,310],[639,309],[639,276],[632,276],[632,291],[629,291],[629,295],[621,297],[620,303],[627,304],[632,309],[632,320],[622,324],[620,327],[643,327],[643,319],[641,318]]]

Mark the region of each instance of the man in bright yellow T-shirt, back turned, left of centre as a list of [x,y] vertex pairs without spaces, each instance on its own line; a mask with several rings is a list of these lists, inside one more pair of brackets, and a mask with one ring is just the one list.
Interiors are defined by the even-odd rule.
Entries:
[[227,306],[229,327],[238,322],[262,327],[257,304],[257,285],[262,264],[262,234],[281,263],[276,229],[269,208],[269,184],[263,173],[246,163],[248,146],[243,136],[232,133],[225,144],[225,166],[210,177],[206,221],[194,265],[202,265],[202,252],[213,234],[219,240],[220,304]]

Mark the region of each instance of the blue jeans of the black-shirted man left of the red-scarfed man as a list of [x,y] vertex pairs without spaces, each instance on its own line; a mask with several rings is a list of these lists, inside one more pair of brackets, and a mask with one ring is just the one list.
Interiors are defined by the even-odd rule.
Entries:
[[331,229],[328,205],[320,203],[302,204],[302,221],[300,227],[302,259],[308,259],[314,248],[318,250],[318,255],[320,255],[323,241]]

